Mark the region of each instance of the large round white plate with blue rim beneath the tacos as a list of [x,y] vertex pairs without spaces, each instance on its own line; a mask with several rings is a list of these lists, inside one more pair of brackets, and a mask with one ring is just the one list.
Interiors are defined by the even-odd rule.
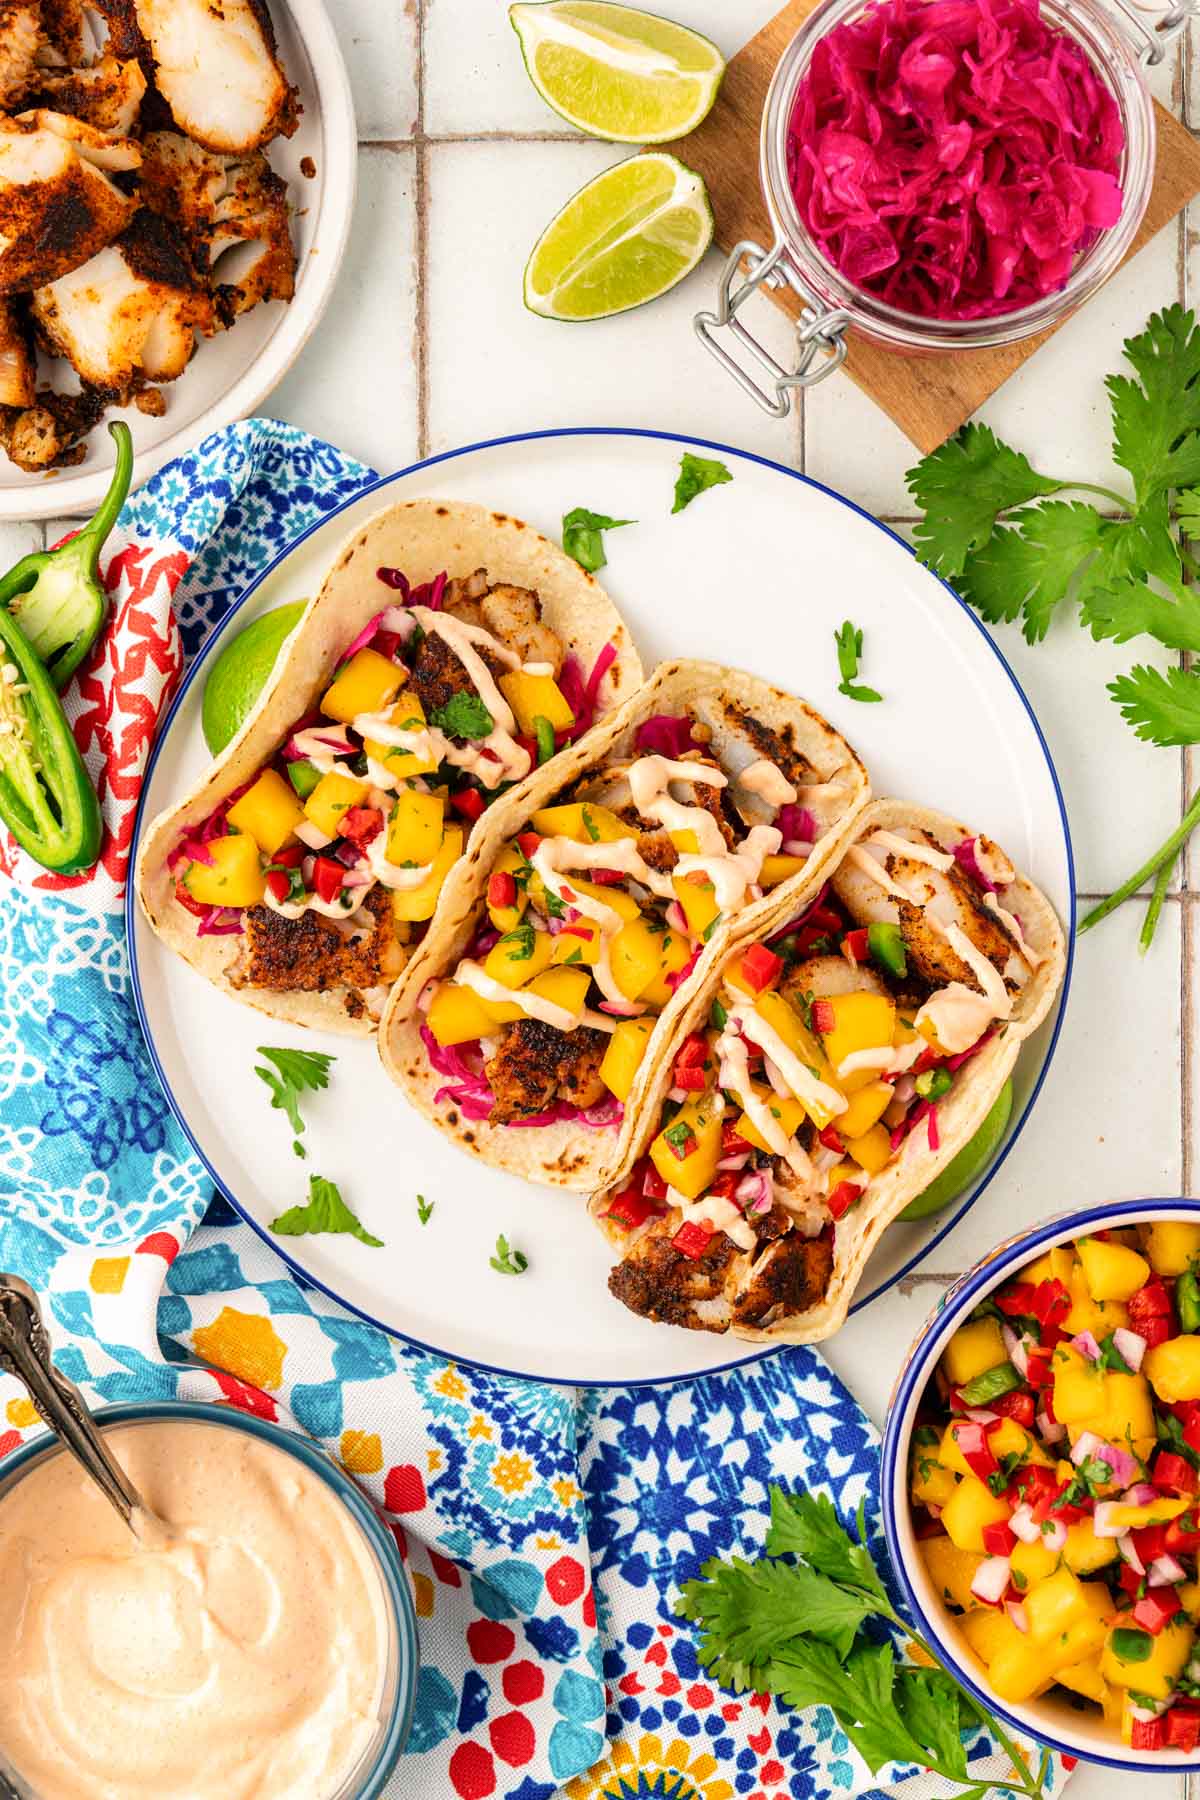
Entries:
[[[673,515],[684,450],[720,457],[732,481]],[[381,481],[295,540],[193,664],[146,774],[139,830],[209,761],[200,704],[228,635],[313,594],[354,526],[416,495],[480,500],[549,536],[576,506],[637,520],[608,533],[601,581],[648,670],[669,655],[705,657],[792,688],[858,749],[876,794],[923,801],[995,837],[1074,931],[1054,765],[1016,677],[975,616],[844,497],[763,457],[658,432],[585,428],[471,445]],[[864,632],[860,679],[883,693],[880,706],[837,691],[833,634],[844,619]],[[371,1042],[266,1021],[173,956],[133,904],[128,923],[146,1040],[196,1152],[279,1256],[351,1312],[457,1361],[581,1386],[680,1381],[765,1354],[626,1312],[608,1294],[608,1247],[583,1197],[455,1150],[407,1107]],[[892,1287],[999,1175],[1045,1076],[1069,981],[1070,970],[1060,1006],[1022,1051],[1013,1114],[990,1168],[943,1213],[885,1233],[856,1307]],[[286,1120],[254,1075],[263,1044],[336,1057],[329,1087],[306,1096],[308,1161],[291,1154]],[[272,1219],[304,1201],[309,1172],[336,1181],[381,1247],[347,1235],[272,1235]],[[417,1195],[432,1202],[425,1224]],[[527,1258],[524,1274],[491,1267],[500,1233]]]

